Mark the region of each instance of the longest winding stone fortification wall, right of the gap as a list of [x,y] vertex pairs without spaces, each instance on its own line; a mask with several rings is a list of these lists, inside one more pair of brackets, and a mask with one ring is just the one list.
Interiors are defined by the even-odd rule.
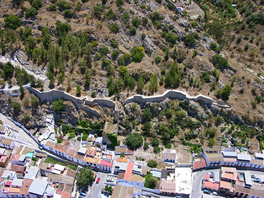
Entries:
[[226,105],[218,105],[216,103],[213,103],[213,99],[204,95],[197,95],[195,97],[189,96],[187,93],[184,93],[182,91],[178,90],[167,90],[164,92],[162,95],[158,96],[142,96],[142,95],[134,95],[130,98],[128,98],[125,102],[124,105],[130,103],[130,102],[137,102],[137,103],[144,103],[144,102],[160,102],[164,101],[166,98],[170,99],[180,99],[180,100],[185,100],[185,102],[189,103],[191,100],[192,101],[202,101],[207,104],[212,104],[212,105],[217,105],[220,108],[230,108],[229,106]]

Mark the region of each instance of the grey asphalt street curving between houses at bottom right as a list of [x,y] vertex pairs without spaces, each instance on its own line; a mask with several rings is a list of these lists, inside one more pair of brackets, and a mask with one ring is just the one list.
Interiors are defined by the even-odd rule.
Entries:
[[[191,192],[191,198],[201,198],[203,195],[203,191],[201,190],[201,185],[202,185],[202,179],[204,175],[208,172],[219,172],[220,169],[211,169],[211,170],[203,170],[203,171],[197,171],[193,172],[193,181],[192,181],[192,192]],[[244,172],[244,170],[239,170],[238,171]],[[264,175],[264,172],[261,171],[255,171],[255,170],[248,170],[251,174],[258,174],[258,175]],[[212,195],[212,194],[211,194]],[[216,196],[215,196],[216,197]],[[224,196],[217,196],[219,198],[224,197]]]

